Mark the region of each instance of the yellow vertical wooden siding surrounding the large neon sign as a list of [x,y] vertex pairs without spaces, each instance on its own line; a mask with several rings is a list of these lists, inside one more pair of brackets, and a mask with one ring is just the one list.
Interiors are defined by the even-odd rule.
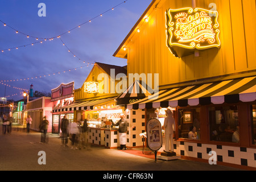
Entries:
[[141,31],[131,34],[123,43],[127,47],[127,73],[159,73],[159,85],[224,75],[237,77],[241,72],[255,75],[255,0],[197,0],[196,7],[203,9],[210,9],[209,3],[216,3],[220,14],[221,48],[199,51],[199,57],[189,55],[180,59],[166,46],[165,11],[192,7],[192,1],[160,2],[162,5],[153,5],[147,11],[149,22],[142,19],[138,24]]

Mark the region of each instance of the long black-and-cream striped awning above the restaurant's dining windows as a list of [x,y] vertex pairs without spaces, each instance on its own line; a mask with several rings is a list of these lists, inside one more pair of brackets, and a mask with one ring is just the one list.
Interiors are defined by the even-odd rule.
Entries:
[[127,109],[185,107],[209,104],[235,104],[256,100],[256,77],[160,90],[152,96],[127,105]]

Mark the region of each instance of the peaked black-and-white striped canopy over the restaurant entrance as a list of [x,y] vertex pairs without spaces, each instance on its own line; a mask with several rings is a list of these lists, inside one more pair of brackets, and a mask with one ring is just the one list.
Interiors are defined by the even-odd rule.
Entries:
[[148,96],[151,96],[151,93],[154,93],[145,82],[142,80],[135,80],[125,92],[121,93],[115,100],[117,105],[126,105],[131,101],[136,101]]

